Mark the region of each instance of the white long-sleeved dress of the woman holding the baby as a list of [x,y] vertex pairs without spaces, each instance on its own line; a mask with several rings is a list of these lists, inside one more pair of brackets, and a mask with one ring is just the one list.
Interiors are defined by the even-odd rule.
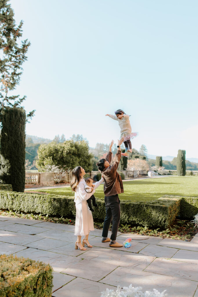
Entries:
[[[95,183],[95,189],[104,181],[102,178]],[[92,212],[88,207],[87,200],[95,193],[95,189],[91,193],[85,191],[85,180],[80,179],[75,191],[74,202],[76,204],[76,221],[74,235],[83,236],[89,234],[91,230],[94,230],[94,220]]]

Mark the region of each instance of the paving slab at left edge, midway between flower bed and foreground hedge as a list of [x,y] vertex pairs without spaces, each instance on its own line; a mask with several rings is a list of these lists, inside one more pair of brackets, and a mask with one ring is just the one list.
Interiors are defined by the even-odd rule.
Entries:
[[37,241],[37,240],[38,238],[35,235],[33,236],[29,234],[0,230],[0,241],[3,241],[3,242],[25,245],[27,243]]

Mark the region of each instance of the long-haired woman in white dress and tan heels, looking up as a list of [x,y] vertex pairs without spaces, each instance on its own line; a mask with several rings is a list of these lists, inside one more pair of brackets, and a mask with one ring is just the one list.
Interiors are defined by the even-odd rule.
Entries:
[[[95,193],[95,189],[91,193],[85,191],[85,180],[83,176],[85,175],[85,170],[77,166],[72,170],[72,181],[71,188],[75,192],[74,202],[76,203],[76,222],[74,235],[77,235],[77,241],[75,243],[75,249],[85,250],[85,244],[87,247],[92,247],[88,241],[89,232],[94,230],[94,220],[92,217],[92,212],[88,207],[87,200]],[[104,179],[96,182],[95,188],[97,188]],[[83,244],[81,243],[81,236],[85,236],[83,239]]]

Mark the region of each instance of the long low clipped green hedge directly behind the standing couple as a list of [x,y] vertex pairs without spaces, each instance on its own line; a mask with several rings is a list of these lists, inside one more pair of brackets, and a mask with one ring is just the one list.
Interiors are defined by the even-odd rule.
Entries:
[[[139,224],[148,227],[167,228],[180,214],[181,197],[158,199],[151,202],[121,200],[121,224]],[[104,220],[104,200],[97,199],[98,208],[93,212],[94,219]],[[73,197],[62,195],[38,195],[0,191],[0,208],[24,213],[48,214],[56,217],[75,217]]]

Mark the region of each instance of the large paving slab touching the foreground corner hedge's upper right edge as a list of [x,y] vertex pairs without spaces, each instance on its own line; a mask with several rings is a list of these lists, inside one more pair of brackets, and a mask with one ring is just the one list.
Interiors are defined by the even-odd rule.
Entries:
[[25,258],[30,258],[32,260],[42,261],[46,264],[50,264],[55,272],[62,272],[67,267],[72,266],[76,262],[80,263],[82,261],[82,259],[79,257],[66,256],[32,248],[15,253],[15,255],[17,255],[17,257],[23,256]]

